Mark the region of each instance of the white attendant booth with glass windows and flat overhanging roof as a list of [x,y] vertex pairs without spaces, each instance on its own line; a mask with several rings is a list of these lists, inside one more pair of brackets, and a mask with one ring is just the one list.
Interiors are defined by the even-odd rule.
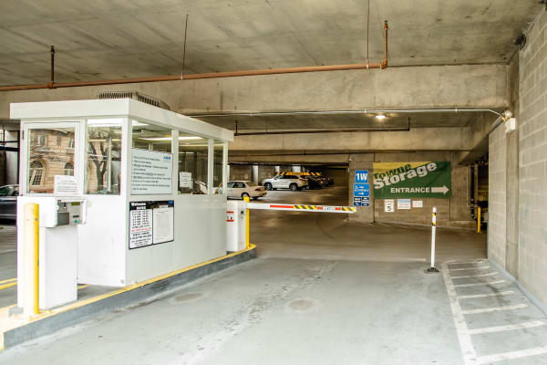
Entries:
[[19,307],[25,203],[40,207],[40,308],[75,300],[77,283],[125,287],[226,255],[231,130],[134,99],[16,103],[10,117]]

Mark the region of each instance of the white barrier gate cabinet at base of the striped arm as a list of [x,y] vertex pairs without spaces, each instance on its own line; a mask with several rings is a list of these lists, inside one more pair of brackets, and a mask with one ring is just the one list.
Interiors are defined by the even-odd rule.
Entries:
[[245,248],[247,235],[247,203],[228,201],[226,206],[226,251],[237,252]]

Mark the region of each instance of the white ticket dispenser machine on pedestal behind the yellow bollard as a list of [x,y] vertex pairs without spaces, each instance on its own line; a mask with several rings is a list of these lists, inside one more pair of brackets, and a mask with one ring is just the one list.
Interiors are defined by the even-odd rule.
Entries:
[[38,203],[40,226],[39,306],[77,300],[77,225],[86,223],[86,199],[21,196],[19,207]]

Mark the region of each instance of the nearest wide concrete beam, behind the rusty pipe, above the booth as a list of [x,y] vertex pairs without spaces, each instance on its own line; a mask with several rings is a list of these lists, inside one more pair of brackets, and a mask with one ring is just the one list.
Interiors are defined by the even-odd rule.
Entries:
[[98,91],[137,90],[171,110],[235,112],[264,110],[349,110],[504,108],[506,65],[461,65],[350,70],[242,78],[0,92],[0,118],[9,103],[96,99]]

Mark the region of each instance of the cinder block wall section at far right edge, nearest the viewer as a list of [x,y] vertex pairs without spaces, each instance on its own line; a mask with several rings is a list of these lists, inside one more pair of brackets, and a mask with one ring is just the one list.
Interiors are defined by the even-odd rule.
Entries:
[[547,13],[543,12],[532,26],[519,59],[518,278],[547,306],[546,25]]

